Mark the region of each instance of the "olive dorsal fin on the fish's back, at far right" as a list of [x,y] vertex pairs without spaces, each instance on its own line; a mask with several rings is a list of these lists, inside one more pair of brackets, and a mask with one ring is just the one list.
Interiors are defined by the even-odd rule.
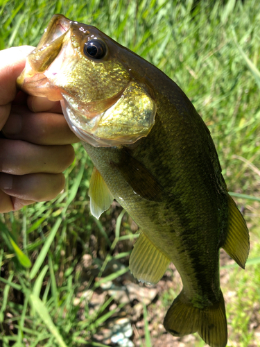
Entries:
[[228,208],[227,238],[223,248],[242,269],[245,269],[250,248],[248,227],[231,196],[228,198]]

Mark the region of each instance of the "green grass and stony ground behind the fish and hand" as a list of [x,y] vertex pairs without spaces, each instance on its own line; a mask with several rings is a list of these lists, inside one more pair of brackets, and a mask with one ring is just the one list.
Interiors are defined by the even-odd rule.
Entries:
[[[0,0],[0,49],[37,45],[55,13],[162,69],[205,120],[250,228],[245,271],[221,252],[228,346],[260,346],[260,1]],[[116,202],[100,221],[89,214],[92,162],[75,150],[58,198],[0,214],[0,345],[205,346],[164,332],[180,277],[174,266],[153,287],[130,276],[137,226]]]

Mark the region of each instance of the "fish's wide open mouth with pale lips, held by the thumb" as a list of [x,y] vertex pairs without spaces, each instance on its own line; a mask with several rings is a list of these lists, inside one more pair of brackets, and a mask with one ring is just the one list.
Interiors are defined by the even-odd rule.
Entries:
[[71,21],[63,15],[53,15],[37,47],[28,55],[26,67],[17,78],[17,87],[33,96],[47,96],[51,101],[62,100],[58,87],[44,75],[60,53]]

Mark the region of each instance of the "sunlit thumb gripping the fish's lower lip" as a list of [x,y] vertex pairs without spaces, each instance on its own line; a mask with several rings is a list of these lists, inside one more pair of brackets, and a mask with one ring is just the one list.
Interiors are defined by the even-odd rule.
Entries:
[[17,77],[24,69],[26,56],[33,48],[33,46],[21,46],[0,51],[0,130],[8,118],[10,102],[17,94]]

